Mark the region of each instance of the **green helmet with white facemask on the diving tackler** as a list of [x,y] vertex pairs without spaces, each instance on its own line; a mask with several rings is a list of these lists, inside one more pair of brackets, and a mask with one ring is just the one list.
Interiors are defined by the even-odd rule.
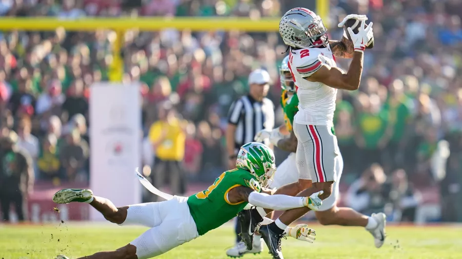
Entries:
[[236,167],[254,175],[261,186],[268,187],[276,172],[274,153],[271,148],[258,142],[249,142],[239,150]]

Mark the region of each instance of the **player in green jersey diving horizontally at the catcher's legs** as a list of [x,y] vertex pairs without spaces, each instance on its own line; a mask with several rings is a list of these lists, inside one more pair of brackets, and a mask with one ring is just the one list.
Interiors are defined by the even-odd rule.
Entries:
[[[115,251],[99,252],[81,259],[144,259],[163,254],[198,238],[236,217],[248,203],[272,210],[309,207],[317,210],[322,202],[317,196],[271,195],[266,187],[276,171],[273,150],[264,144],[243,145],[236,169],[223,172],[208,189],[190,197],[174,196],[164,202],[116,207],[111,201],[93,196],[89,189],[63,189],[55,193],[55,203],[85,202],[100,211],[104,218],[119,225],[150,227],[128,245]],[[287,228],[288,236],[313,242],[315,232],[306,225]],[[300,234],[303,233],[303,234]]]

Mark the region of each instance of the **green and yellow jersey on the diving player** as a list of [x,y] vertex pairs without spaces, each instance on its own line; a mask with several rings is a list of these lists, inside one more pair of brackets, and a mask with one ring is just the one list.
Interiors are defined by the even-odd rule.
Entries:
[[223,225],[244,209],[247,202],[228,201],[228,192],[241,185],[258,192],[261,189],[257,179],[250,172],[236,168],[223,172],[208,189],[188,198],[189,211],[196,222],[199,235]]

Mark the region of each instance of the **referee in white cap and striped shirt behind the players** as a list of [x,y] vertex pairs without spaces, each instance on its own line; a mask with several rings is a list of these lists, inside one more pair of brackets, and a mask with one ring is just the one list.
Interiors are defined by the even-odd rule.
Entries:
[[[249,93],[233,102],[228,113],[226,128],[226,150],[228,155],[228,169],[236,167],[239,148],[245,143],[254,141],[254,136],[261,130],[273,130],[275,106],[266,98],[271,82],[268,72],[262,69],[253,71],[248,76]],[[236,225],[236,240],[241,241],[239,221]],[[237,245],[228,251],[238,254]],[[228,253],[228,251],[226,253]]]

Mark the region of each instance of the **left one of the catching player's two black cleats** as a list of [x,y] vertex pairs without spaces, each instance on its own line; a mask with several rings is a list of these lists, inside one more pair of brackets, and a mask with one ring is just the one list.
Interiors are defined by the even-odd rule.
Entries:
[[257,209],[241,210],[238,213],[238,220],[241,223],[241,239],[248,250],[253,249],[254,233],[257,226],[263,221]]

